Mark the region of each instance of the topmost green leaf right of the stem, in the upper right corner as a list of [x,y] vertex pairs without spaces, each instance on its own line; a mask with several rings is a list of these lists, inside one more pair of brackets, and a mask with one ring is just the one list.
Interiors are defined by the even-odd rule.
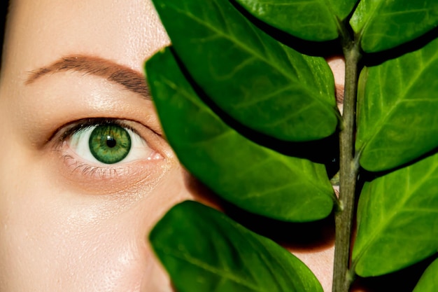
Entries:
[[438,25],[437,0],[361,0],[350,20],[367,53],[395,48]]

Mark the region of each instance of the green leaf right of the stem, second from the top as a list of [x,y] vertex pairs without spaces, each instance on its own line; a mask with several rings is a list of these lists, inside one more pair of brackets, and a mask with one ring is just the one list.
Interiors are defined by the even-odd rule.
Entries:
[[438,39],[360,74],[360,165],[381,171],[438,146]]

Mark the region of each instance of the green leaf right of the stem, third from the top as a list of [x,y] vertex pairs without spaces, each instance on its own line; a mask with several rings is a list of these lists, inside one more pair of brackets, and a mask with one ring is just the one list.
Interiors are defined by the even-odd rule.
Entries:
[[365,183],[353,266],[362,277],[400,270],[438,249],[438,153]]

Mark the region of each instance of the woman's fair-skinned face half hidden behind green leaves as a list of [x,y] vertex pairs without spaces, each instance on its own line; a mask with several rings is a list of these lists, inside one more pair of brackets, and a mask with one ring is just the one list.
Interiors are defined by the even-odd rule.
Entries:
[[[205,201],[205,189],[178,164],[142,82],[144,60],[168,43],[150,1],[13,1],[0,81],[0,291],[171,291],[146,237],[176,202]],[[108,165],[88,140],[110,128],[132,148]],[[298,254],[329,289],[323,245]]]

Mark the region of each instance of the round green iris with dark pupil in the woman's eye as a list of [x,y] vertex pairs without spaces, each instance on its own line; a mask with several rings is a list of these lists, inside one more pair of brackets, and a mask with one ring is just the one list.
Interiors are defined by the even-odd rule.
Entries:
[[111,165],[122,161],[128,155],[131,137],[120,125],[99,125],[90,134],[88,145],[94,158]]

